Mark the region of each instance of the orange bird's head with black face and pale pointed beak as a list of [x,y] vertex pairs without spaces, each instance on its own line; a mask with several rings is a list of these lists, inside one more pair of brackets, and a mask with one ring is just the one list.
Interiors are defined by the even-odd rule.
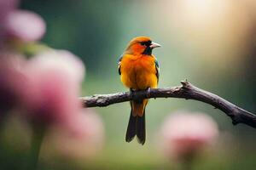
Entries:
[[149,37],[135,37],[129,42],[125,54],[151,55],[153,48],[159,48],[160,44],[152,42]]

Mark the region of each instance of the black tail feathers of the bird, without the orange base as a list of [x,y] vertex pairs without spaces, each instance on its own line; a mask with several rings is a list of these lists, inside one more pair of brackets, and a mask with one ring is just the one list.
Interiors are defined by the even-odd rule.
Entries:
[[132,116],[132,111],[130,114],[130,119],[126,131],[126,142],[131,142],[137,135],[137,141],[139,144],[144,144],[146,141],[146,123],[145,123],[145,111],[143,116]]

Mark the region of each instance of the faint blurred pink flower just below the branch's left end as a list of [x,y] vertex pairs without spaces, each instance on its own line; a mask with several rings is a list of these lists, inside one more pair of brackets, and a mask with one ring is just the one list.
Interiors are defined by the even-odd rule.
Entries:
[[104,128],[95,111],[84,109],[75,114],[69,127],[56,127],[49,138],[61,156],[73,159],[91,159],[102,150]]

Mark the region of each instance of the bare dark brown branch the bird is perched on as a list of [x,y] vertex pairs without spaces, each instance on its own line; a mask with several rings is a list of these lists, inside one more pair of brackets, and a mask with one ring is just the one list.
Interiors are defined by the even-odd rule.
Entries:
[[[196,88],[193,84],[187,81],[181,82],[182,86],[172,88],[151,88],[149,93],[147,90],[135,92],[133,99],[149,99],[149,98],[181,98],[195,99],[215,108],[224,111],[227,116],[230,116],[234,125],[244,123],[251,127],[256,127],[256,116],[241,109],[240,107],[230,103],[229,101],[220,98],[216,94],[212,94],[201,88]],[[108,106],[116,103],[132,100],[130,92],[117,94],[96,94],[89,97],[80,98],[84,107]]]

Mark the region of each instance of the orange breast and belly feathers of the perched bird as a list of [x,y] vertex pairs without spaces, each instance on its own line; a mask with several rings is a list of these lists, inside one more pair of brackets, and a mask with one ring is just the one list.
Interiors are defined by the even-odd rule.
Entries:
[[125,54],[120,63],[121,82],[127,88],[157,88],[158,78],[154,55]]

